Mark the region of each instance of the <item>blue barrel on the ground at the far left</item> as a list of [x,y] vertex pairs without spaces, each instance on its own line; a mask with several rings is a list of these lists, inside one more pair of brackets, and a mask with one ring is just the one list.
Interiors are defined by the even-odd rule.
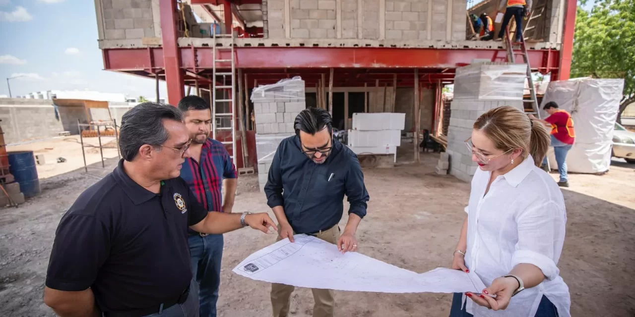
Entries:
[[36,159],[33,151],[8,152],[9,171],[15,181],[20,184],[24,197],[32,197],[40,193],[37,178]]

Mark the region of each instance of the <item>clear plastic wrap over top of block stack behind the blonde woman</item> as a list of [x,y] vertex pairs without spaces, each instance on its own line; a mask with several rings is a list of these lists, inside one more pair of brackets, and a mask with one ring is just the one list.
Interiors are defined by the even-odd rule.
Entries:
[[455,100],[523,100],[526,64],[478,63],[457,68]]

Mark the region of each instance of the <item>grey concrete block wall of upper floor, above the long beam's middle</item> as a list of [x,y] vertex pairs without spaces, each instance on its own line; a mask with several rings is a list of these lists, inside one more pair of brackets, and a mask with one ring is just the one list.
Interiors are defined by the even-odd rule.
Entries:
[[390,41],[465,39],[466,0],[290,0],[288,31],[284,23],[284,2],[267,0],[266,4],[263,3],[263,7],[266,7],[263,9],[264,13],[266,11],[265,32],[269,38]]

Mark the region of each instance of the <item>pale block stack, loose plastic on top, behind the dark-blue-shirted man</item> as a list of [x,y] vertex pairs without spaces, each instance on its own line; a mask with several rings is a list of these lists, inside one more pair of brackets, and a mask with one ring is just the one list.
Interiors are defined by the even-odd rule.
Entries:
[[256,119],[258,184],[264,191],[277,146],[295,134],[293,121],[306,108],[304,81],[294,77],[257,87],[251,93],[251,101]]

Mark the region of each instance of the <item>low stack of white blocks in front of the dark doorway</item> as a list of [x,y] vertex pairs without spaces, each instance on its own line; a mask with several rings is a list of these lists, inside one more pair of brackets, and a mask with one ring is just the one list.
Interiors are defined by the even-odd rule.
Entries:
[[392,154],[397,159],[406,113],[353,113],[348,146],[352,152]]

